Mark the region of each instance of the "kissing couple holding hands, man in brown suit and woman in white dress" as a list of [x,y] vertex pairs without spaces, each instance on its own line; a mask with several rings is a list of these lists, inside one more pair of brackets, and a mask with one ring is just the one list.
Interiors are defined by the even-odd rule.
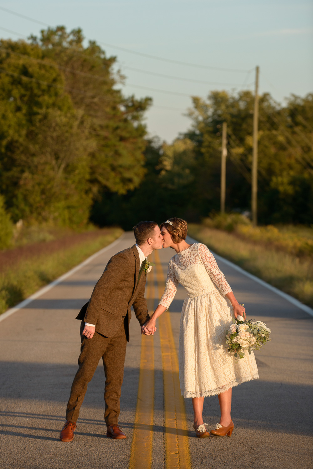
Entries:
[[[127,436],[119,426],[119,398],[123,382],[126,343],[129,341],[131,306],[141,332],[153,335],[156,319],[170,306],[177,286],[186,288],[179,333],[179,380],[181,393],[191,398],[194,431],[198,438],[231,436],[231,388],[259,377],[253,352],[235,363],[225,347],[225,329],[232,318],[246,317],[216,260],[202,243],[188,244],[187,222],[170,218],[158,227],[154,221],[141,221],[134,227],[136,244],[111,257],[97,281],[90,300],[76,319],[81,323],[81,354],[70,398],[61,441],[72,441],[79,409],[87,385],[102,357],[105,374],[104,420],[106,435],[112,439]],[[153,250],[172,248],[164,295],[151,318],[144,297],[149,262]],[[203,423],[203,400],[218,395],[221,418],[209,432]]]

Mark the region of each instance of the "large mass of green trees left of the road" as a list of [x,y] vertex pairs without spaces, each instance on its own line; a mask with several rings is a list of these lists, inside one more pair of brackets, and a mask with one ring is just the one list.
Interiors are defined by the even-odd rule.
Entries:
[[57,27],[0,41],[0,184],[15,221],[86,226],[98,192],[144,175],[151,100],[115,90],[115,57],[83,39]]

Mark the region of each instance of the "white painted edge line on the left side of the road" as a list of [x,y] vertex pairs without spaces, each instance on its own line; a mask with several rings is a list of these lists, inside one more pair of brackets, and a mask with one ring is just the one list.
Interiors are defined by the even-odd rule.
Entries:
[[116,239],[115,241],[113,241],[111,244],[108,244],[108,246],[105,246],[105,248],[103,249],[100,249],[99,251],[95,252],[95,254],[93,254],[92,256],[88,257],[87,259],[85,259],[81,264],[78,264],[76,265],[76,267],[74,267],[73,269],[69,270],[68,272],[64,273],[63,275],[61,275],[58,279],[56,280],[53,280],[53,282],[49,283],[48,285],[46,285],[45,287],[43,288],[40,288],[40,290],[38,290],[36,293],[34,293],[33,295],[30,295],[28,298],[26,298],[26,300],[23,300],[21,303],[18,303],[16,306],[14,306],[14,308],[10,308],[9,310],[7,310],[5,313],[2,313],[0,314],[0,322],[3,321],[3,319],[6,319],[8,316],[11,316],[11,314],[15,313],[16,311],[20,310],[21,308],[25,308],[25,306],[27,306],[28,304],[30,304],[33,300],[35,300],[36,298],[38,298],[38,296],[41,296],[43,295],[44,293],[48,292],[49,290],[51,290],[53,287],[55,287],[56,285],[58,285],[59,283],[61,283],[63,280],[67,279],[67,277],[69,277],[70,275],[72,275],[73,273],[77,272],[79,269],[81,269],[84,265],[86,264],[89,264],[90,261],[92,261],[95,257],[97,256],[100,256],[100,254],[102,254],[103,252],[105,252],[106,250],[108,249],[111,249],[113,246],[115,246],[120,240],[121,238],[124,236],[124,233],[119,236],[118,239]]

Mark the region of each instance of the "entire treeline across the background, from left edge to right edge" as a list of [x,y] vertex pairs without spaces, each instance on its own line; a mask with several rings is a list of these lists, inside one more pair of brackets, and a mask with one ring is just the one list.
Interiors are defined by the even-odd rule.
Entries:
[[[249,212],[251,91],[192,98],[190,129],[148,138],[151,98],[124,97],[116,57],[84,46],[82,30],[48,28],[0,40],[0,198],[13,222],[84,227],[219,211],[221,130],[227,122],[226,210]],[[313,94],[284,106],[260,96],[258,218],[313,223]],[[1,200],[0,200],[1,206]]]

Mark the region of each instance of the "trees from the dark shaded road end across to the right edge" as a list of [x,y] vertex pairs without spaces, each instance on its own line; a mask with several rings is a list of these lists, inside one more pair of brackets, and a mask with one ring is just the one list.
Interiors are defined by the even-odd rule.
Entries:
[[[173,144],[150,141],[141,185],[125,195],[104,190],[92,210],[101,225],[130,229],[138,219],[179,216],[199,221],[220,210],[221,128],[228,128],[225,215],[214,223],[234,230],[240,212],[249,212],[253,102],[250,91],[213,91],[193,98],[192,126]],[[303,117],[302,117],[303,116]],[[313,213],[313,94],[291,96],[282,107],[268,94],[260,98],[259,221],[310,225]],[[207,220],[208,223],[212,222]]]

